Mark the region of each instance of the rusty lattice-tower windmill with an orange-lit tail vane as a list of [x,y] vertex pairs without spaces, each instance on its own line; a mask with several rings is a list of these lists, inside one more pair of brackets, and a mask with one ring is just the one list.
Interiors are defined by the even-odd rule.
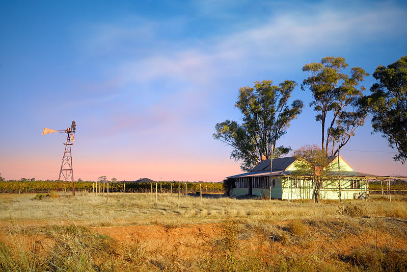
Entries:
[[65,188],[66,188],[67,182],[72,182],[72,192],[73,192],[74,196],[75,196],[75,183],[73,182],[72,156],[71,156],[71,145],[73,143],[71,143],[71,142],[75,141],[75,139],[74,139],[75,130],[76,130],[76,123],[75,123],[75,121],[72,121],[71,127],[67,128],[66,130],[51,130],[48,128],[44,128],[44,130],[42,131],[42,135],[54,133],[54,132],[68,134],[66,143],[64,143],[65,152],[64,152],[64,157],[62,157],[62,164],[61,164],[60,176],[58,178],[57,191],[59,191],[60,181],[61,181],[61,176],[62,176],[65,180]]

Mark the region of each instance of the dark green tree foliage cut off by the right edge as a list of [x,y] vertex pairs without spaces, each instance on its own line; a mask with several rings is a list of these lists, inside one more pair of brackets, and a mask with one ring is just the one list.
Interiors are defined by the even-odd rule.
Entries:
[[407,56],[387,66],[379,65],[373,77],[368,104],[373,113],[373,132],[382,133],[396,147],[395,161],[407,160]]

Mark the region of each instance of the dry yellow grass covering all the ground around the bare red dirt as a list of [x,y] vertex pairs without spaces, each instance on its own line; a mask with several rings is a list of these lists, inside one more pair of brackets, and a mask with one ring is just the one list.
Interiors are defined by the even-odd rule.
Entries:
[[[171,194],[115,193],[105,197],[0,195],[2,271],[403,271],[407,270],[407,203],[319,203],[186,199]],[[39,197],[37,197],[38,199]],[[34,221],[26,227],[24,222]],[[38,221],[36,224],[35,221]],[[61,221],[70,225],[60,226]],[[45,226],[42,226],[45,222]],[[201,237],[202,254],[146,251],[89,227],[216,223],[221,234]]]

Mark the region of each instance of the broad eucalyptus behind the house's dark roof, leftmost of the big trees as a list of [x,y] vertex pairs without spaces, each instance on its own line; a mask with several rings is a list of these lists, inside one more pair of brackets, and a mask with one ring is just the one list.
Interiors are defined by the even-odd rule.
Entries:
[[289,80],[278,86],[271,80],[263,80],[254,82],[254,87],[241,87],[235,107],[242,114],[242,124],[226,120],[215,125],[213,138],[233,147],[231,158],[242,161],[243,171],[251,170],[262,156],[277,158],[291,150],[276,147],[276,143],[304,108],[301,100],[294,100],[288,106],[295,86]]

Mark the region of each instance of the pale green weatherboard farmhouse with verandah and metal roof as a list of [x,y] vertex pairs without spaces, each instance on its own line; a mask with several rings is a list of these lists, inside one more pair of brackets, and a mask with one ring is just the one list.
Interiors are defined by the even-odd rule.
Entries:
[[[341,199],[354,199],[368,194],[369,180],[389,178],[354,171],[340,156],[328,159],[330,179],[322,184],[320,199],[339,200],[339,195]],[[250,172],[227,177],[230,184],[228,193],[231,196],[269,196],[271,191],[271,197],[275,199],[313,199],[313,180],[310,176],[293,175],[295,162],[294,157],[273,159],[273,171],[270,173],[270,160],[262,160]]]

